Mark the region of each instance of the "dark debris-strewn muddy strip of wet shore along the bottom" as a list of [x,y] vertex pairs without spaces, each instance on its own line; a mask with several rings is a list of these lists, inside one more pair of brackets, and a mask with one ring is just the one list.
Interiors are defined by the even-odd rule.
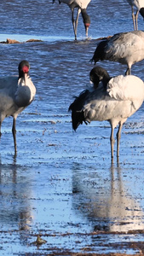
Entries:
[[[128,234],[124,233],[118,233],[118,232],[107,232],[107,231],[98,231],[98,232],[92,232],[89,234],[72,234],[72,233],[66,233],[66,234],[47,234],[46,230],[40,230],[40,235],[37,234],[26,234],[26,232],[22,232],[21,230],[11,230],[9,232],[2,232],[4,236],[4,240],[7,240],[9,236],[17,236],[16,234],[19,233],[19,236],[23,236],[26,239],[26,253],[13,253],[12,255],[25,255],[25,256],[32,256],[32,255],[66,255],[66,256],[142,256],[144,255],[144,241],[129,241],[129,235],[137,236],[141,233],[140,230],[137,230],[135,232],[131,231]],[[0,232],[1,233],[1,232]],[[23,234],[22,234],[23,233]],[[24,234],[25,233],[25,234]],[[142,232],[143,234],[143,232]],[[108,236],[119,236],[119,239],[121,240],[120,236],[124,236],[123,241],[118,242],[107,242],[109,240]],[[2,236],[2,238],[3,238]],[[54,247],[52,244],[49,244],[49,238],[53,238],[55,240],[76,240],[76,247],[73,247],[72,249],[69,248],[62,248],[62,247]],[[24,239],[24,240],[25,240]],[[93,240],[93,243],[87,244],[88,240]],[[15,240],[12,243],[15,243]],[[32,241],[32,243],[28,243],[28,241]],[[84,244],[85,246],[81,247],[80,244]],[[8,241],[5,241],[5,244],[7,245]],[[24,241],[25,243],[25,241]],[[96,253],[97,249],[95,248],[95,245],[97,244],[99,253]],[[77,248],[77,245],[79,249]],[[62,244],[61,244],[62,246]],[[2,247],[0,248],[0,250]],[[76,251],[78,252],[76,253]],[[32,253],[28,252],[32,251]],[[103,251],[107,251],[107,253],[103,253]],[[118,252],[130,252],[130,253],[114,253],[114,251]],[[1,251],[3,252],[3,251]],[[110,253],[113,252],[113,253]],[[6,255],[6,254],[2,254]]]

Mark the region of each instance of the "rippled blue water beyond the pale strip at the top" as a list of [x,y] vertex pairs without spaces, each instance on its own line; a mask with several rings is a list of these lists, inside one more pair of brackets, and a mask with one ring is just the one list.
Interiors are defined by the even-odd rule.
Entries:
[[[35,37],[72,40],[71,10],[66,4],[55,0],[39,2],[1,1],[0,34],[30,35]],[[92,0],[87,12],[90,16],[89,37],[99,38],[116,32],[133,30],[131,8],[127,1]],[[139,29],[143,29],[141,15],[138,18]],[[78,22],[78,39],[84,38],[84,24],[81,15]],[[47,39],[46,39],[47,40]]]

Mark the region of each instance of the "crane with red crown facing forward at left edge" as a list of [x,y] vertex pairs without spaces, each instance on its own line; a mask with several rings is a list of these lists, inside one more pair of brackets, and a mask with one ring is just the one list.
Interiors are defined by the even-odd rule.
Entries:
[[29,76],[30,65],[28,61],[20,61],[19,77],[9,76],[0,78],[0,136],[1,125],[6,117],[13,117],[12,133],[14,137],[14,154],[16,145],[16,118],[34,100],[36,87]]

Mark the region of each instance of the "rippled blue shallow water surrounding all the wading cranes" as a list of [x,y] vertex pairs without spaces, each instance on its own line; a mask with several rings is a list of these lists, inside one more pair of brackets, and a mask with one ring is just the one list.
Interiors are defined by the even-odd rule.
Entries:
[[[1,1],[2,2],[2,1]],[[26,59],[37,87],[35,101],[17,119],[14,158],[12,118],[2,125],[0,154],[1,255],[48,253],[137,253],[143,241],[144,106],[124,124],[119,163],[110,159],[110,125],[93,122],[72,131],[68,107],[89,84],[95,38],[133,29],[126,1],[89,4],[89,40],[79,17],[73,40],[71,13],[51,1],[0,3],[0,41],[30,38],[43,42],[1,44],[1,75],[17,74]],[[139,16],[139,29],[144,26]],[[144,61],[132,73],[144,79]],[[126,67],[103,61],[111,75]],[[131,232],[130,232],[131,230]],[[139,231],[137,231],[139,230]],[[37,247],[40,234],[46,243]]]

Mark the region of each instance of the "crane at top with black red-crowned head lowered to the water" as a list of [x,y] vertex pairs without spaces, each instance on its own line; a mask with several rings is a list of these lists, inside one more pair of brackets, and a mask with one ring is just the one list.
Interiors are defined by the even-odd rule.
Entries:
[[[59,3],[66,3],[72,12],[72,26],[74,31],[75,40],[77,40],[77,28],[78,28],[78,17],[80,13],[82,14],[84,27],[85,27],[85,34],[88,37],[88,29],[90,25],[90,18],[86,12],[88,4],[91,0],[59,0]],[[53,0],[55,3],[55,0]],[[78,9],[76,20],[74,19],[74,9]]]

